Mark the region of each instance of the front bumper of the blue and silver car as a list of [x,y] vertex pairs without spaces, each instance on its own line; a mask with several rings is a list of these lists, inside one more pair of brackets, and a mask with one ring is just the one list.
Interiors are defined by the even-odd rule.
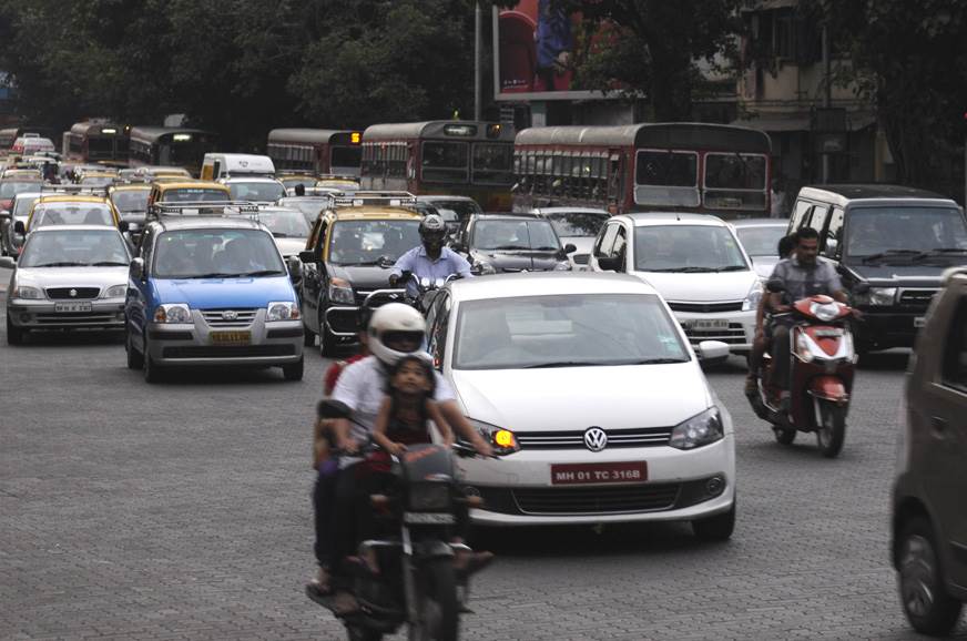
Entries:
[[[208,325],[199,309],[192,309],[193,323],[149,323],[147,353],[156,365],[291,365],[303,357],[302,320],[265,322],[259,309],[247,324]],[[233,333],[233,344],[220,344],[220,333]],[[241,339],[238,336],[246,336]]]

